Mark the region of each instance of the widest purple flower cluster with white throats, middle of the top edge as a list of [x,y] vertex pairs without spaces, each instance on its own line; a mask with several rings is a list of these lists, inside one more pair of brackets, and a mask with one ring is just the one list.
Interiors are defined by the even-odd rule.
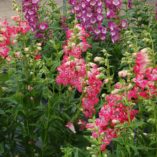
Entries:
[[89,32],[94,34],[95,38],[104,40],[106,38],[106,28],[102,25],[103,3],[101,0],[69,0],[73,6],[73,13],[80,20],[81,25]]

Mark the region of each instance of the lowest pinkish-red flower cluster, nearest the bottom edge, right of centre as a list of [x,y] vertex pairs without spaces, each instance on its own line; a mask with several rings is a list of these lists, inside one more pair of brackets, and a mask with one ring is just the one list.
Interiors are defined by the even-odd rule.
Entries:
[[119,136],[120,132],[116,125],[133,120],[137,114],[136,110],[124,105],[123,99],[124,97],[118,94],[108,95],[106,103],[99,112],[99,118],[86,126],[92,130],[93,138],[101,138],[101,151],[106,149],[113,138]]

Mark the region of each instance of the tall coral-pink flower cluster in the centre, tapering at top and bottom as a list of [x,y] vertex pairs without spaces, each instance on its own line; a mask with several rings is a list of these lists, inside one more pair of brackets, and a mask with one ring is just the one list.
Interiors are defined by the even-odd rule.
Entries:
[[87,64],[82,58],[90,45],[86,38],[88,34],[80,25],[74,30],[67,31],[67,41],[63,46],[64,57],[62,64],[57,68],[59,75],[57,83],[70,85],[82,92],[82,108],[86,117],[95,112],[94,105],[98,103],[97,95],[101,90],[102,82],[98,78],[100,72],[95,64]]

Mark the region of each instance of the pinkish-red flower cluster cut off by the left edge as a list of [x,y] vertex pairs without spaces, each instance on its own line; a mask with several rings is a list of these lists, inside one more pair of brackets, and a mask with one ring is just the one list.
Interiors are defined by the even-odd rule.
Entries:
[[25,34],[30,30],[26,21],[21,21],[19,16],[12,17],[17,26],[11,26],[5,21],[0,21],[0,56],[9,59],[9,46],[16,43],[18,34]]

